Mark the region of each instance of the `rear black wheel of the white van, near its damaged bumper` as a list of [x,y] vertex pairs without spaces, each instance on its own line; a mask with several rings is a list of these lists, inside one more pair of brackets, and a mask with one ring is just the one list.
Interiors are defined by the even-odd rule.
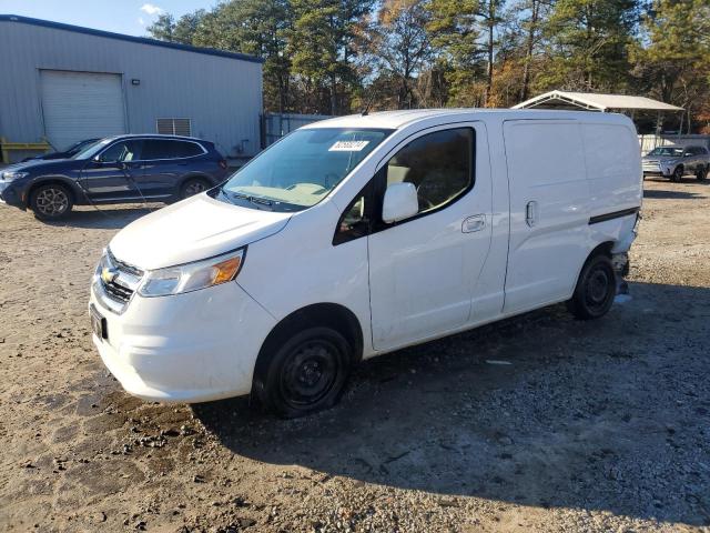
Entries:
[[611,260],[592,255],[581,269],[567,309],[579,320],[600,319],[609,312],[617,294],[617,280]]

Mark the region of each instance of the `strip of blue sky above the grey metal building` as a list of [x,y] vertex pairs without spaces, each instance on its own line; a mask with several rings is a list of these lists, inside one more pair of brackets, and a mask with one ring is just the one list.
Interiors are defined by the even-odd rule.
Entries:
[[0,13],[145,36],[145,27],[161,12],[179,17],[216,3],[217,0],[0,0]]

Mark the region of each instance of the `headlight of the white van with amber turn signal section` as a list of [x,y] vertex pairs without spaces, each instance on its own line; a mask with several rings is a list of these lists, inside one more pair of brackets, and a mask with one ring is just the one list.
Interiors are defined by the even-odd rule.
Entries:
[[141,296],[168,296],[234,280],[246,249],[166,269],[149,270],[138,290]]

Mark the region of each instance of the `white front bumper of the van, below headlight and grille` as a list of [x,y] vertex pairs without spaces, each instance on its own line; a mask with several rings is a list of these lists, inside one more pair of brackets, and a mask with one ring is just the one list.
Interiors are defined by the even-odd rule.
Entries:
[[275,320],[236,282],[185,294],[135,294],[93,335],[103,363],[130,394],[161,402],[203,402],[248,394],[261,345]]

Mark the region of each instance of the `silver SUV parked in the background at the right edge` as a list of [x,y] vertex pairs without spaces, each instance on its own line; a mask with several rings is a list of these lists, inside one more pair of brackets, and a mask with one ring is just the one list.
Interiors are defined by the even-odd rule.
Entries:
[[643,178],[662,175],[680,181],[686,174],[694,174],[702,181],[710,169],[710,152],[703,147],[658,147],[643,157]]

